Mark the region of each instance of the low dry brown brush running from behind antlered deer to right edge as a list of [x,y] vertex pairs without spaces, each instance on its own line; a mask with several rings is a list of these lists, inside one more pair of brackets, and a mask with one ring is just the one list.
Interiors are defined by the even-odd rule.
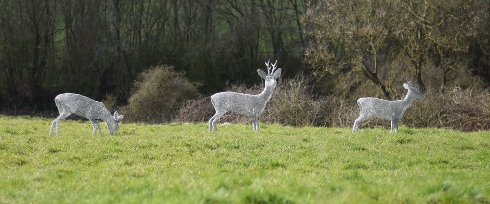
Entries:
[[[298,76],[285,79],[278,84],[260,122],[282,124],[295,127],[326,126],[351,128],[359,116],[356,100],[340,100],[333,97],[319,97],[311,92],[310,78]],[[243,84],[231,85],[227,91],[258,94],[263,84],[247,88]],[[401,126],[412,128],[449,128],[462,131],[490,128],[490,94],[482,88],[454,88],[427,90],[425,99],[415,101],[409,107]],[[405,93],[406,94],[406,93]],[[399,96],[396,100],[401,99]],[[175,122],[207,122],[215,113],[209,97],[189,101],[179,111]],[[236,113],[226,113],[221,123],[250,124],[251,117]],[[389,128],[390,122],[372,118],[361,127]]]

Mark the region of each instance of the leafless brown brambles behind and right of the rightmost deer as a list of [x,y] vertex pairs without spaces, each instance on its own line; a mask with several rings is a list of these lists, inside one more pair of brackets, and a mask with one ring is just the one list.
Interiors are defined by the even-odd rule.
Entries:
[[[400,125],[412,128],[448,128],[473,131],[490,128],[490,94],[480,88],[462,89],[459,87],[441,93],[430,89],[425,99],[414,102],[400,120]],[[334,113],[340,123],[334,127],[350,128],[357,118],[359,109],[355,101],[337,105],[340,111]],[[354,114],[352,114],[354,113]],[[357,114],[357,115],[356,115]],[[372,118],[363,123],[365,127],[389,127],[390,122]]]

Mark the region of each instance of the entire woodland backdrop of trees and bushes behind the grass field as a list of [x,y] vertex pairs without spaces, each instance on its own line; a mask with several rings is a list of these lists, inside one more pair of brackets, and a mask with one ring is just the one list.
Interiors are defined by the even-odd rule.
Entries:
[[204,122],[210,95],[260,92],[270,58],[266,123],[349,127],[357,98],[412,80],[426,99],[402,125],[488,129],[489,18],[489,0],[2,0],[0,113],[54,117],[72,92],[128,122]]

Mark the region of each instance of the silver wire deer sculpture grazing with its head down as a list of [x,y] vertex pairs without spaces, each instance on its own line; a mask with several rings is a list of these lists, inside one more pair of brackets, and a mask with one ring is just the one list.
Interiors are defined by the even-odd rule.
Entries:
[[104,103],[94,101],[91,98],[79,94],[65,93],[54,98],[56,107],[60,115],[51,124],[49,135],[53,133],[54,124],[56,124],[56,134],[60,133],[59,122],[68,116],[75,114],[90,120],[92,123],[92,134],[95,134],[95,128],[98,128],[98,133],[102,134],[97,119],[102,120],[107,124],[109,134],[116,134],[119,131],[119,122],[123,120],[123,115],[119,115],[116,111],[114,115],[105,107]]

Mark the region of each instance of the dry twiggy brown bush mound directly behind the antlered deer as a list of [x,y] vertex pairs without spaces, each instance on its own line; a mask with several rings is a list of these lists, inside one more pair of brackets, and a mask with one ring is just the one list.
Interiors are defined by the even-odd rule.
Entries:
[[[335,110],[336,100],[318,97],[312,93],[311,78],[298,75],[278,83],[264,113],[259,117],[261,123],[278,123],[290,126],[332,126],[329,112]],[[246,94],[259,94],[264,84],[247,88],[244,84],[233,84],[226,91]],[[215,113],[209,97],[189,101],[179,111],[175,122],[207,122]],[[236,113],[226,113],[220,122],[251,123],[251,117]]]

